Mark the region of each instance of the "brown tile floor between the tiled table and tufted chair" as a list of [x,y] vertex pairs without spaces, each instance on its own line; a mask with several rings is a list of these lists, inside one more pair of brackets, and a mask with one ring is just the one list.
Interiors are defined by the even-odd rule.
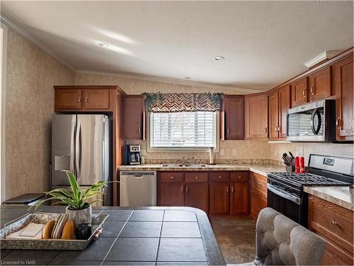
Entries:
[[227,264],[254,260],[256,221],[249,217],[212,217],[210,223]]

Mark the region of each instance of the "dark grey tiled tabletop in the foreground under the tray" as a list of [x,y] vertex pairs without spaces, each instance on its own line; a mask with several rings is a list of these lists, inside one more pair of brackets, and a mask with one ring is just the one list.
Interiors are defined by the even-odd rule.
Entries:
[[[1,206],[4,223],[29,211]],[[96,207],[109,214],[85,250],[1,250],[1,265],[225,265],[204,211],[190,207]],[[44,206],[61,213],[64,206]]]

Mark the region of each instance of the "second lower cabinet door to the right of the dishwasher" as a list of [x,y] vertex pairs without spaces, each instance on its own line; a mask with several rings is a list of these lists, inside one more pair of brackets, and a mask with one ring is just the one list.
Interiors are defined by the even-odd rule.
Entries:
[[185,182],[185,206],[201,209],[207,213],[207,182]]

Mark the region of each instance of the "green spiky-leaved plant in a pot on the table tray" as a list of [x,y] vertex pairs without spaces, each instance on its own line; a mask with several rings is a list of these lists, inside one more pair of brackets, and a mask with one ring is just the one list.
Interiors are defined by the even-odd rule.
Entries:
[[92,184],[89,189],[80,189],[75,175],[68,170],[63,170],[63,172],[67,174],[71,189],[60,188],[47,192],[46,196],[49,197],[38,201],[38,203],[34,205],[35,209],[45,201],[55,200],[52,205],[67,205],[66,213],[69,219],[74,221],[76,226],[79,223],[91,223],[91,204],[96,201],[102,201],[102,199],[88,200],[103,195],[104,192],[102,192],[101,189],[110,182],[98,181]]

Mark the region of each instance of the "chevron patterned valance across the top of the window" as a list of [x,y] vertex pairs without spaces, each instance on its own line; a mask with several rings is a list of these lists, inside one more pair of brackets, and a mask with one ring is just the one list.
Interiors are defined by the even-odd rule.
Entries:
[[144,93],[148,113],[219,111],[220,93]]

